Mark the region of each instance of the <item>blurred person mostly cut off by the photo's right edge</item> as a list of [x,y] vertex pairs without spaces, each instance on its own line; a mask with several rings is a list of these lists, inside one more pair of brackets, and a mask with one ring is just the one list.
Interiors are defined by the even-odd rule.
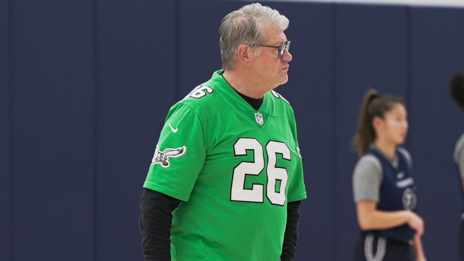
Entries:
[[[458,72],[451,78],[451,97],[458,103],[459,107],[464,110],[464,73]],[[464,186],[464,134],[458,139],[456,147],[454,148],[454,162],[458,164],[460,184]],[[461,188],[462,188],[461,186]],[[461,189],[461,196],[464,197],[463,190]],[[464,203],[464,200],[463,200]],[[464,212],[464,211],[463,211]],[[459,254],[461,260],[464,261],[464,213],[461,218],[461,229],[459,231]]]

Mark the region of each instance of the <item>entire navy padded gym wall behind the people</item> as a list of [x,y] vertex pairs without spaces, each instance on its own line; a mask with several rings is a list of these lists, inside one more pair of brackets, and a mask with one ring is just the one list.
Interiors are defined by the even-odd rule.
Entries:
[[[0,0],[0,260],[142,260],[142,184],[168,109],[220,69],[222,18],[252,1]],[[405,98],[429,260],[458,260],[452,153],[464,9],[262,1],[290,19],[308,199],[298,260],[350,260],[350,148],[369,87]]]

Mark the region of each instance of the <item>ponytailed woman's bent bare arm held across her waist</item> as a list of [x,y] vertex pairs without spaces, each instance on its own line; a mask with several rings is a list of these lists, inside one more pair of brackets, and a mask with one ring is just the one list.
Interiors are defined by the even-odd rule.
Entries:
[[381,211],[377,210],[377,202],[361,200],[356,203],[356,212],[362,230],[388,229],[407,223],[416,230],[416,235],[424,234],[424,221],[409,210]]

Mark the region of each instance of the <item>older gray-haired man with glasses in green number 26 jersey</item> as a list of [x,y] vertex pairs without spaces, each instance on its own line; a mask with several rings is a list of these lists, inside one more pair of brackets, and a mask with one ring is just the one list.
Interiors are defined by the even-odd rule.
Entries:
[[174,104],[141,199],[147,261],[295,260],[306,198],[288,80],[288,19],[258,3],[219,28],[223,70]]

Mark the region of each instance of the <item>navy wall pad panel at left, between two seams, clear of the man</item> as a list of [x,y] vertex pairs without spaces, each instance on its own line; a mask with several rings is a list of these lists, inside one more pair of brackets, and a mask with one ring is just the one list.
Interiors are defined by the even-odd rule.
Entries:
[[91,260],[92,2],[9,2],[12,260]]

